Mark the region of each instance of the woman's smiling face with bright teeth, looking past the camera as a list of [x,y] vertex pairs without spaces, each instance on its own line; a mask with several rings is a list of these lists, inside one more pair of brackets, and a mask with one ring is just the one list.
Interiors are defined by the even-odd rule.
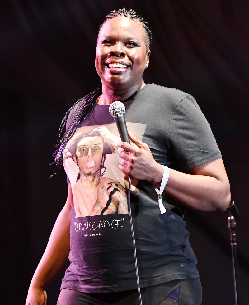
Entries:
[[106,20],[98,35],[95,58],[103,87],[115,91],[142,85],[150,55],[146,50],[146,35],[137,20],[123,15]]

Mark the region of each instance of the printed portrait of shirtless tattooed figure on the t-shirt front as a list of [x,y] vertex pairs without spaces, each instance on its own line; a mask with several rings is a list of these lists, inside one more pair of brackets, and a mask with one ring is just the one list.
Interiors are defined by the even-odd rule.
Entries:
[[[106,126],[78,128],[64,151],[64,168],[72,186],[76,218],[129,213],[126,195],[129,177],[118,167],[120,136],[115,134],[115,124]],[[132,181],[131,192],[138,195],[136,185],[137,181]]]

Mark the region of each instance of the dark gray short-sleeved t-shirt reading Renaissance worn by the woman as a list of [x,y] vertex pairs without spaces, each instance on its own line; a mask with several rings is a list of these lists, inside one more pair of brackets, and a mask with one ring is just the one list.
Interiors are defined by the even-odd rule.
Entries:
[[[128,131],[149,145],[160,164],[185,172],[221,157],[209,123],[189,94],[148,84],[123,103]],[[65,149],[74,206],[62,289],[104,293],[137,287],[129,183],[118,168],[118,141],[109,105],[96,104]],[[140,286],[198,277],[183,206],[163,193],[167,211],[161,214],[156,191],[141,180],[132,181],[130,201]]]

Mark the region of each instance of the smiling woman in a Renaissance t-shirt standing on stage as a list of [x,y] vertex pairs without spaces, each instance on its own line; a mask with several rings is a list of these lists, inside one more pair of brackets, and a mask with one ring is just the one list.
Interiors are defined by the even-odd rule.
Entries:
[[[63,121],[67,132],[58,142],[55,160],[63,160],[68,198],[26,305],[46,304],[45,288],[68,257],[58,305],[201,303],[184,206],[224,211],[230,187],[221,153],[193,97],[144,83],[150,43],[147,23],[132,10],[111,12],[99,29],[95,66],[101,87],[69,109]],[[120,141],[119,153],[106,155],[105,175],[130,191],[131,218],[126,210],[76,217],[72,190],[78,172],[67,162],[76,156],[64,153],[63,158],[63,151],[76,135],[99,126],[118,136],[109,114],[114,101],[125,104],[131,144]]]

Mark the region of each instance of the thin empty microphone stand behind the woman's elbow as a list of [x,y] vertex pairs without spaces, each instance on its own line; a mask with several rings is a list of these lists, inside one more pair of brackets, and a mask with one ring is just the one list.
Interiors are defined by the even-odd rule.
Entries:
[[234,201],[232,205],[228,207],[228,229],[230,230],[230,241],[232,248],[232,262],[233,262],[233,282],[235,293],[235,304],[239,305],[239,285],[238,285],[238,260],[237,260],[237,241],[236,241],[236,217],[239,215],[239,211]]

